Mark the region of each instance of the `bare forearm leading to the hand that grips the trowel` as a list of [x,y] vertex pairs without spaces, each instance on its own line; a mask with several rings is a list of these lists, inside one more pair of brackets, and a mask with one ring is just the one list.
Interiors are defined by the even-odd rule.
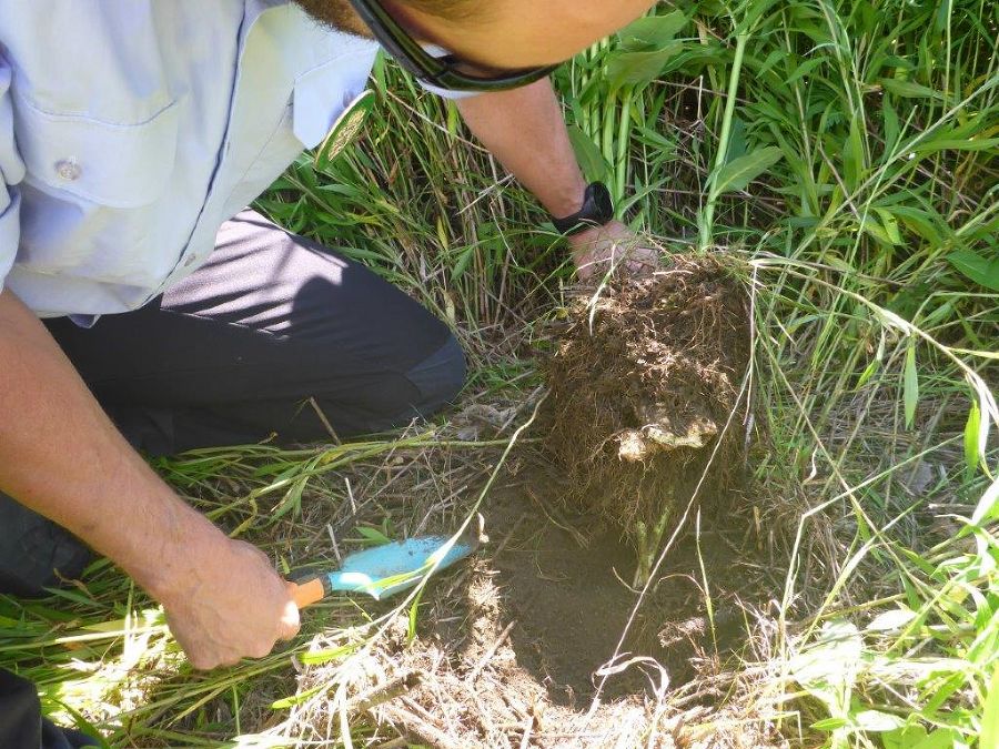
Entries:
[[154,596],[224,540],[119,434],[59,346],[0,293],[0,488],[83,538]]

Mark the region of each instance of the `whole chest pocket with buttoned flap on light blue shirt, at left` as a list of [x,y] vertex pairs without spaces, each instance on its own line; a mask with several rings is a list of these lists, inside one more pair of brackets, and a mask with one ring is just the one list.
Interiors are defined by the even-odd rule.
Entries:
[[14,139],[27,169],[21,272],[130,287],[130,306],[162,282],[183,246],[164,251],[169,230],[154,220],[176,165],[183,101],[119,123],[14,95]]

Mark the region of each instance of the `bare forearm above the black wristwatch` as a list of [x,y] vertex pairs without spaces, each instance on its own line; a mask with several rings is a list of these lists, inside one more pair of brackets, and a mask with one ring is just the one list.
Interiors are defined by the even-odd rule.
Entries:
[[567,216],[582,208],[586,182],[551,81],[457,105],[475,136],[549,213]]

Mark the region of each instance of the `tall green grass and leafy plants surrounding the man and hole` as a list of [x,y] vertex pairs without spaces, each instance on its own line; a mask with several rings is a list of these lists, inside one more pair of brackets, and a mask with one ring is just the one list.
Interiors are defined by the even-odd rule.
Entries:
[[[793,746],[999,746],[999,8],[677,8],[556,80],[581,161],[624,217],[727,255],[753,292],[754,505],[783,588],[755,614],[759,668],[729,702]],[[453,105],[384,63],[374,85],[359,146],[322,171],[303,156],[259,204],[448,320],[470,392],[526,393],[533,328],[571,279],[564,251]],[[335,513],[337,472],[397,449],[233,448],[159,467],[294,564],[303,493]],[[324,614],[309,634],[363,620],[345,603]],[[268,746],[249,737],[289,719],[272,704],[293,689],[284,656],[190,674],[110,568],[85,590],[0,598],[0,664],[115,746]]]

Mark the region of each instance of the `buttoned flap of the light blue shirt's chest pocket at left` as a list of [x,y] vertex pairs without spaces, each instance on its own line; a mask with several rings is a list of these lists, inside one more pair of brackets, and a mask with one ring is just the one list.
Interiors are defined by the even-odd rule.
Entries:
[[179,109],[176,100],[145,121],[117,123],[60,114],[16,97],[26,182],[54,196],[111,209],[149,205],[173,173]]

